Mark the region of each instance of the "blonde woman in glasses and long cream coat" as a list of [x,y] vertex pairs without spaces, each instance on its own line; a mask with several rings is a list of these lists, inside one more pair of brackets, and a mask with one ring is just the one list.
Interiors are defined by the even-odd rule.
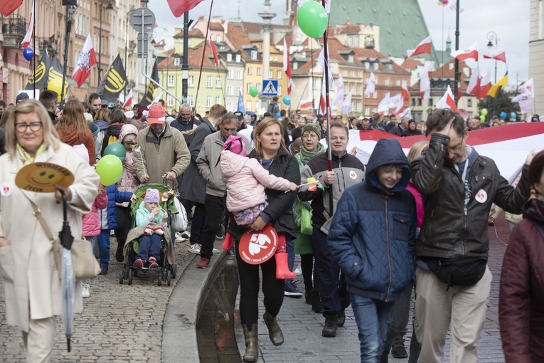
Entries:
[[[55,342],[55,315],[62,298],[53,249],[31,200],[53,234],[63,227],[60,190],[68,199],[68,222],[81,236],[82,214],[90,212],[98,191],[98,176],[72,147],[58,140],[46,111],[36,100],[16,107],[6,124],[6,150],[0,157],[0,275],[4,278],[6,320],[23,332],[27,362],[49,362]],[[34,162],[58,164],[75,177],[54,193],[34,193],[15,184],[18,171]],[[50,169],[44,169],[47,172]],[[80,312],[81,287],[76,286],[75,312]]]

